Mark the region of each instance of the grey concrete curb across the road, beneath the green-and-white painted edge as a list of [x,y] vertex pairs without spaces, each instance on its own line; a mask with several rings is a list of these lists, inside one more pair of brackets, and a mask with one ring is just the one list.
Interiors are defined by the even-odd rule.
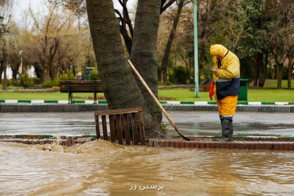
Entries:
[[[218,106],[213,104],[162,104],[168,111],[218,111]],[[87,112],[108,110],[104,104],[60,104],[60,103],[0,103],[0,113],[4,112]],[[241,112],[272,112],[293,113],[294,105],[237,105],[236,111]]]

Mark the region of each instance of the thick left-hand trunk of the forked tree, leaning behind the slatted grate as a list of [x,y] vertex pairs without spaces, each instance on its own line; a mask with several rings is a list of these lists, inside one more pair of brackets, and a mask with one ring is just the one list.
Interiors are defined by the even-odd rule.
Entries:
[[[143,107],[147,138],[161,136],[155,131],[158,123],[148,112],[144,97],[127,65],[113,2],[86,0],[86,3],[98,73],[109,109]],[[154,54],[156,57],[156,52]]]

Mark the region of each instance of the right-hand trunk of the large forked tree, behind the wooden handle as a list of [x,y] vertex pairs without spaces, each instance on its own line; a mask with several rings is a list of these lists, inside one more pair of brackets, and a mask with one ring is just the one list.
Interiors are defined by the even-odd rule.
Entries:
[[[157,73],[157,33],[160,15],[160,0],[138,0],[131,61],[142,75],[147,85],[158,98]],[[141,81],[136,77],[138,86],[145,98],[147,108],[157,123],[157,129],[162,121],[162,112],[149,95]]]

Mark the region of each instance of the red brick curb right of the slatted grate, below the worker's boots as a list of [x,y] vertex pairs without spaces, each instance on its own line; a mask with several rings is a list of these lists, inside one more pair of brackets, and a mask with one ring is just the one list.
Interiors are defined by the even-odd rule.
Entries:
[[270,141],[185,141],[185,140],[152,140],[147,139],[149,147],[175,148],[225,148],[225,149],[261,149],[261,150],[294,150],[294,142]]

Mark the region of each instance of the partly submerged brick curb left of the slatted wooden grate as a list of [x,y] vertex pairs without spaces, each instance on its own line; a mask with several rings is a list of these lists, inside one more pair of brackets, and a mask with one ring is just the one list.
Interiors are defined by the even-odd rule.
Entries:
[[[92,137],[83,137],[83,138],[77,138],[76,140],[73,139],[67,139],[67,140],[59,140],[59,145],[61,146],[73,146],[74,144],[78,143],[85,143],[92,141]],[[56,139],[25,139],[25,138],[0,138],[0,142],[16,142],[16,143],[22,143],[22,144],[28,144],[28,145],[45,145],[45,144],[53,144],[56,143]]]

